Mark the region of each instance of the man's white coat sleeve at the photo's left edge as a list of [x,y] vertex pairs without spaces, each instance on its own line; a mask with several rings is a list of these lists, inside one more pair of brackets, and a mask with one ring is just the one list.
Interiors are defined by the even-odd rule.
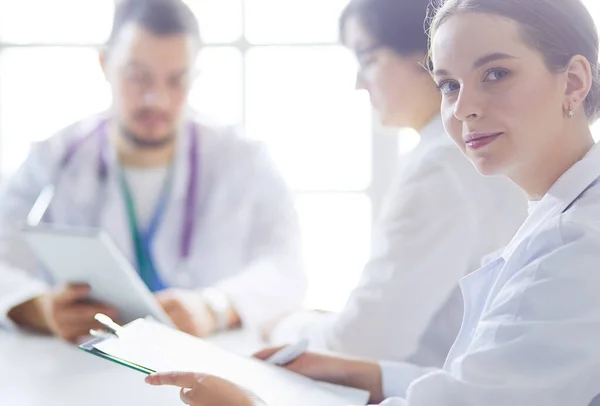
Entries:
[[49,181],[49,155],[43,144],[35,144],[0,192],[0,326],[14,327],[9,310],[47,290],[33,275],[37,263],[18,231]]

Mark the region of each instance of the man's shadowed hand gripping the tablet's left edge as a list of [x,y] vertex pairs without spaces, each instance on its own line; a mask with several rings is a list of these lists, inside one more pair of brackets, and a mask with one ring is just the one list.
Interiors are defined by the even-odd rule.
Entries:
[[67,285],[15,306],[8,317],[22,327],[75,342],[89,335],[90,329],[102,329],[102,325],[94,319],[96,313],[118,320],[115,309],[87,300],[89,293],[87,285]]

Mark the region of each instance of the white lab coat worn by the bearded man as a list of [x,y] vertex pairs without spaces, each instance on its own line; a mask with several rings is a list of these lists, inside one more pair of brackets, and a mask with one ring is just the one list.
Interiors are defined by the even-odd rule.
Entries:
[[[67,167],[61,169],[59,164],[67,146],[90,134],[103,116],[76,123],[33,145],[0,194],[1,324],[10,324],[6,317],[10,308],[48,288],[34,277],[40,267],[18,228],[49,182],[57,182],[48,211],[54,222],[90,225],[96,218],[135,263],[114,152],[108,159],[105,185],[98,176],[98,137],[85,141]],[[304,297],[306,281],[293,199],[260,143],[230,130],[197,125],[200,176],[192,254],[180,260],[190,141],[182,127],[171,195],[152,245],[157,272],[171,287],[221,289],[242,322],[258,326],[299,306]]]

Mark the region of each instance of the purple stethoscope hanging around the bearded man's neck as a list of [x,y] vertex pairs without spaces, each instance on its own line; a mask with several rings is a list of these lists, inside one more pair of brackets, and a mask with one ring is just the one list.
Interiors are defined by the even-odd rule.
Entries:
[[[73,162],[74,156],[81,149],[81,147],[91,139],[98,139],[98,168],[97,176],[103,187],[106,187],[108,180],[108,136],[107,128],[108,120],[102,120],[88,135],[85,137],[78,138],[74,142],[71,142],[60,160],[59,170],[60,173]],[[181,236],[179,243],[179,257],[180,259],[189,258],[192,251],[192,241],[194,233],[196,231],[196,207],[198,199],[198,176],[200,172],[199,167],[199,151],[198,151],[198,129],[194,123],[188,124],[188,134],[190,137],[190,148],[189,148],[189,171],[188,171],[188,182],[187,182],[187,195],[184,201],[184,216],[183,224],[181,227]],[[60,173],[57,178],[60,178]],[[56,191],[56,182],[50,183],[42,189],[42,192],[38,196],[34,203],[29,215],[27,216],[27,224],[31,227],[37,226],[44,218],[50,203],[54,197]],[[98,204],[102,204],[103,199],[97,199]],[[101,208],[97,207],[95,211],[99,214]]]

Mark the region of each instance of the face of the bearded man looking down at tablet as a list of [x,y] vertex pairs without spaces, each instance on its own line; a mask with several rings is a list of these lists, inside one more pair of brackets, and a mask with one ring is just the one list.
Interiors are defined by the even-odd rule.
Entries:
[[164,145],[177,133],[198,45],[189,35],[156,35],[130,23],[102,56],[114,113],[137,145]]

